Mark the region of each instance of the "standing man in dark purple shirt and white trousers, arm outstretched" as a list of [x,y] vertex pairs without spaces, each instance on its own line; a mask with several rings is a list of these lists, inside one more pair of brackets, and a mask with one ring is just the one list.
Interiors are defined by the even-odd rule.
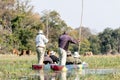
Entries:
[[69,43],[77,44],[79,41],[73,39],[71,36],[68,35],[68,33],[65,31],[58,39],[58,53],[60,58],[59,65],[66,64],[66,57],[67,57],[67,51],[69,47]]

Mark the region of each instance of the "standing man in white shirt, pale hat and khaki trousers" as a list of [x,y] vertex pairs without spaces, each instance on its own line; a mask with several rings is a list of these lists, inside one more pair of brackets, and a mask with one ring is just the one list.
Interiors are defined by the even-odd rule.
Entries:
[[48,43],[48,39],[43,34],[42,30],[38,31],[35,42],[36,42],[38,64],[43,65],[46,43]]

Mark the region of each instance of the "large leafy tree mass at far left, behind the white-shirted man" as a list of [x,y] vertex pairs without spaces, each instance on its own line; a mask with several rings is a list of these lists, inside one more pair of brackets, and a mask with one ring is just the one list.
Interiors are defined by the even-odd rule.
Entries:
[[[9,47],[8,50],[13,48],[21,49],[32,49],[35,51],[34,38],[38,29],[42,28],[40,17],[38,14],[32,12],[33,7],[28,3],[29,1],[1,1],[0,4],[3,6],[0,10],[3,10],[0,14],[0,25],[1,25],[1,44],[4,41],[5,46]],[[7,6],[8,7],[6,10]],[[4,7],[5,5],[5,7]],[[7,51],[8,51],[7,50]]]

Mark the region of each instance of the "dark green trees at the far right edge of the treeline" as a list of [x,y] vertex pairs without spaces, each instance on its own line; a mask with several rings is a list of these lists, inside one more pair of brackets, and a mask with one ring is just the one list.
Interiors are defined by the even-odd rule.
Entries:
[[100,46],[102,53],[120,53],[120,28],[112,30],[111,28],[106,28],[103,33],[98,35],[100,39]]

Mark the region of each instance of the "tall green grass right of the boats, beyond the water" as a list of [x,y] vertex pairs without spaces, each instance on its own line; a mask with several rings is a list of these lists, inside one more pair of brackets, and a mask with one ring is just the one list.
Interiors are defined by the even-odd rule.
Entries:
[[118,68],[120,69],[120,55],[100,55],[82,57],[82,60],[89,64],[89,68]]

